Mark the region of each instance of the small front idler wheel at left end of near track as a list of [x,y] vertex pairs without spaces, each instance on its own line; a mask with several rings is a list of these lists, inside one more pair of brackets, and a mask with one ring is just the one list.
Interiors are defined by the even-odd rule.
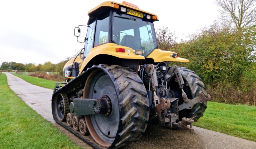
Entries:
[[66,120],[66,116],[69,113],[69,101],[65,93],[59,93],[54,98],[54,111],[59,121]]

